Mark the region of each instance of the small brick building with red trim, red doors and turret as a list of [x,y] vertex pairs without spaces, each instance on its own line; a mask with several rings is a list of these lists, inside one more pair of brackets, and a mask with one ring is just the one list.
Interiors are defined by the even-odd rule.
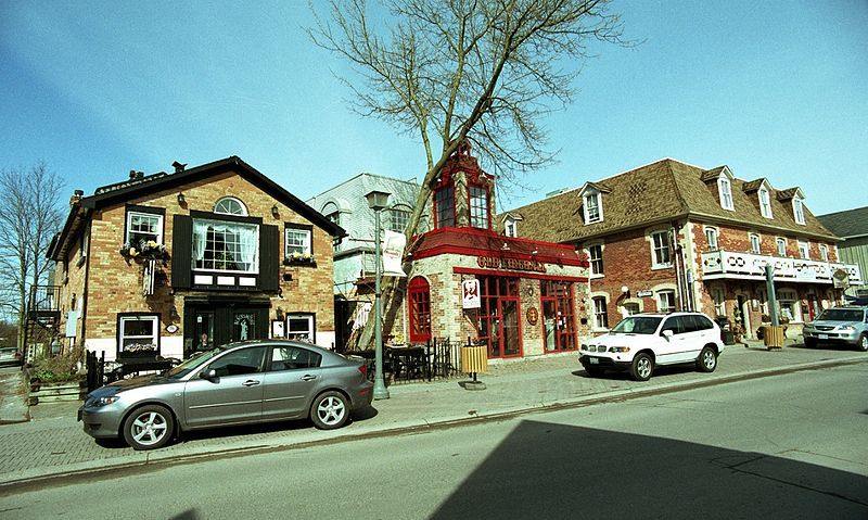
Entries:
[[498,234],[494,177],[469,147],[431,188],[431,231],[414,237],[405,255],[407,340],[470,338],[488,345],[489,358],[576,350],[588,330],[583,256],[570,245]]

